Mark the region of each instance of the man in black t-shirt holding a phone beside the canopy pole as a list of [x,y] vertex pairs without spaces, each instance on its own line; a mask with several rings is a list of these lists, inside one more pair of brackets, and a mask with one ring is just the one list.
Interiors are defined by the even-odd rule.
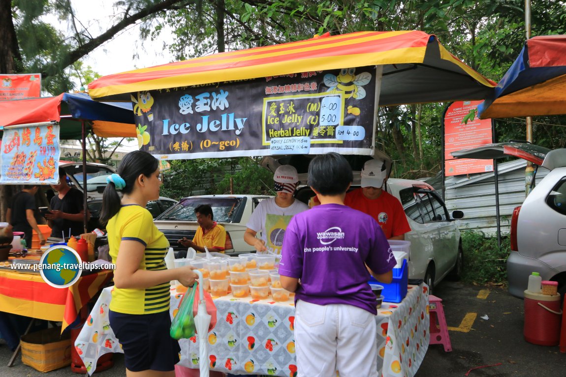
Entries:
[[59,168],[59,184],[51,186],[57,194],[51,199],[51,210],[45,215],[52,237],[79,236],[84,233],[84,197],[78,189],[67,184],[67,174]]

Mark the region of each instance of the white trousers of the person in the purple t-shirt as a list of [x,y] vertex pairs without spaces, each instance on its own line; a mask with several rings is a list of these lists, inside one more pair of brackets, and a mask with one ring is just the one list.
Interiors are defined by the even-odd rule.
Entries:
[[298,377],[377,377],[375,317],[357,306],[299,300],[295,354]]

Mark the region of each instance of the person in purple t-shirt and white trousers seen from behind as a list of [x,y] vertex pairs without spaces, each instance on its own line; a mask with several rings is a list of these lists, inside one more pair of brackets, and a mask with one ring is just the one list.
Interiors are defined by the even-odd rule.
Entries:
[[378,376],[375,295],[370,273],[391,283],[396,261],[379,224],[344,205],[353,180],[337,153],[315,157],[308,185],[321,205],[291,219],[279,274],[295,292],[295,353],[300,376]]

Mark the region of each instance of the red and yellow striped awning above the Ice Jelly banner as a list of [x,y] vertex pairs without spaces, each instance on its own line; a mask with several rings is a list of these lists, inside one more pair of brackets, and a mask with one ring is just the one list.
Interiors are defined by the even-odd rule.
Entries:
[[98,101],[130,101],[141,90],[178,88],[290,73],[383,65],[379,105],[484,99],[495,83],[420,31],[356,32],[230,51],[103,76],[88,85]]

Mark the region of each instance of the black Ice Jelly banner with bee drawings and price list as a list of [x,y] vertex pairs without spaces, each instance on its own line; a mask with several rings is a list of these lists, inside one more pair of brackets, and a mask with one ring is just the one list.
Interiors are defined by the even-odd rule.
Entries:
[[370,155],[380,75],[358,67],[133,93],[138,145],[161,159]]

